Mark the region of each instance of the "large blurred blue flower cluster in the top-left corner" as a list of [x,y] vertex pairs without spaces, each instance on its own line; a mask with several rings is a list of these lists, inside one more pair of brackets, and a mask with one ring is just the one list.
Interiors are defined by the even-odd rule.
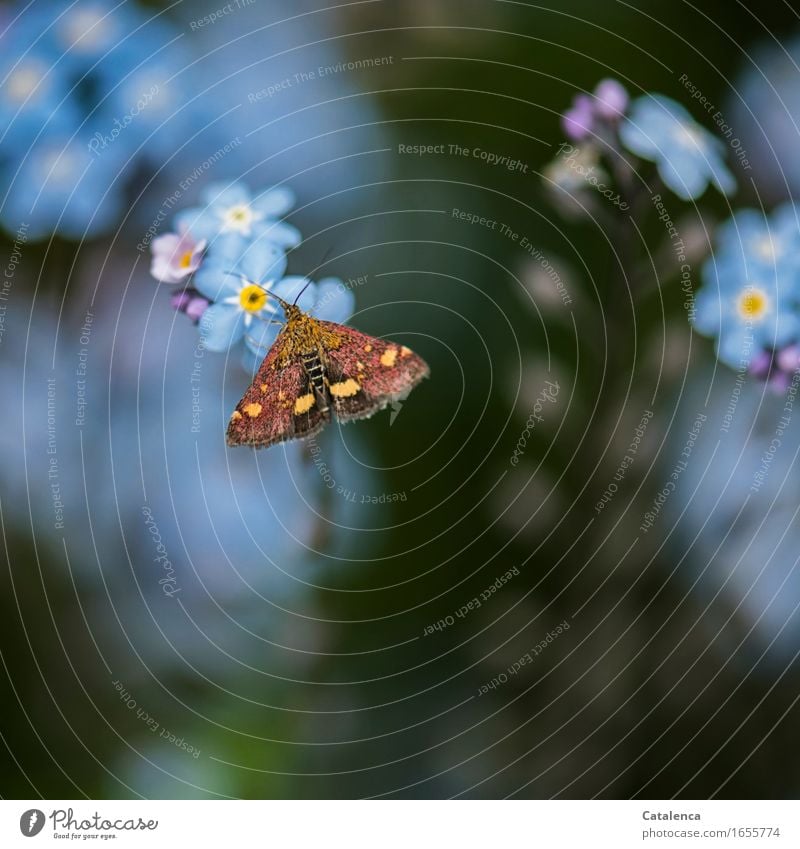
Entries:
[[134,169],[189,135],[180,33],[134,0],[34,0],[7,10],[0,48],[0,223],[24,220],[31,238],[108,231]]

